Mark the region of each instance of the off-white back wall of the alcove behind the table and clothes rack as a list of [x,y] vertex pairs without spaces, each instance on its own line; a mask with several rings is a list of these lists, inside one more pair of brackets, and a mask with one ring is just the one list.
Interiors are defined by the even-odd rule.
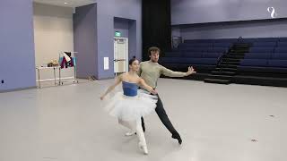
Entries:
[[[69,7],[34,3],[36,66],[58,60],[61,51],[74,51],[73,12]],[[52,70],[42,70],[40,74],[41,80],[54,79]],[[62,78],[73,77],[74,69],[62,70],[61,75]]]

